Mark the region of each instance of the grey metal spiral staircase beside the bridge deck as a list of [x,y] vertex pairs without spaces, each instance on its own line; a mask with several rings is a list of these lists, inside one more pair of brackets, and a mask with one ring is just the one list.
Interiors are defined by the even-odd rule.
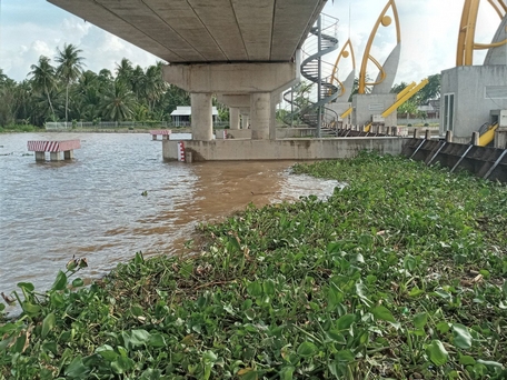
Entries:
[[292,126],[299,120],[316,128],[317,137],[336,136],[338,114],[326,104],[338,98],[340,89],[332,83],[334,64],[324,61],[322,57],[338,49],[337,24],[338,19],[320,14],[302,49],[305,59],[300,70],[309,82],[301,82],[284,93],[284,100],[291,107],[284,122]]

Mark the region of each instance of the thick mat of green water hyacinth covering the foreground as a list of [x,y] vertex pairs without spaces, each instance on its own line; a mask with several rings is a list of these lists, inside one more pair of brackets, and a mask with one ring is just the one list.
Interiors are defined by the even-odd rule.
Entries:
[[202,224],[186,256],[137,253],[89,288],[61,272],[47,302],[22,283],[0,377],[506,376],[505,186],[375,154],[294,170],[349,184]]

